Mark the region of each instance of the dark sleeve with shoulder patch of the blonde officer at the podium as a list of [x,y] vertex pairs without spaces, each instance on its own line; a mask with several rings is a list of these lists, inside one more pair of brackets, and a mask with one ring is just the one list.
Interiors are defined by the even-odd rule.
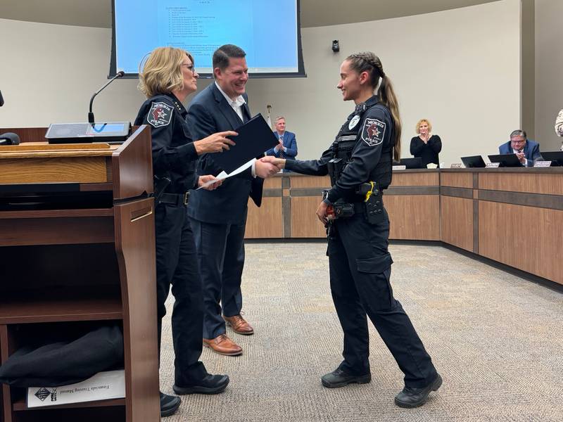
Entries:
[[174,146],[177,140],[172,139],[175,133],[177,118],[175,106],[167,101],[153,101],[144,118],[144,124],[151,127],[153,172],[160,174],[168,170],[184,167],[186,161],[197,160],[196,147],[192,139],[180,129],[185,143]]

